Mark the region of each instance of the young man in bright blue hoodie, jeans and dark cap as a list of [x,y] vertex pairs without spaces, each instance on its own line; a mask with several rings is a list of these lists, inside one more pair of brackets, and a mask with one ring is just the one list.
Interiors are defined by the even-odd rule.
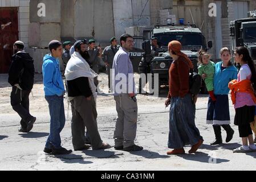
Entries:
[[49,43],[50,55],[43,58],[43,85],[46,101],[50,110],[50,135],[46,141],[44,152],[47,154],[60,155],[70,154],[72,150],[67,150],[61,146],[60,132],[65,125],[65,113],[63,96],[65,94],[62,73],[58,57],[62,56],[62,43],[52,40]]

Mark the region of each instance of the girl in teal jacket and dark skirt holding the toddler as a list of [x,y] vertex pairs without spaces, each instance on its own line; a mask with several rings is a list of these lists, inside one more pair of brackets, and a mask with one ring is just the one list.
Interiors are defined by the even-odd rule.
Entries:
[[214,134],[216,137],[211,145],[222,143],[221,126],[226,130],[227,133],[226,143],[230,142],[234,134],[234,130],[230,127],[228,97],[230,90],[227,86],[231,80],[237,79],[237,68],[235,68],[230,62],[231,52],[229,48],[222,48],[220,53],[222,61],[216,63],[215,65],[213,80],[214,96],[216,97],[216,101],[214,102],[212,98],[209,97],[207,111],[207,123],[213,125]]

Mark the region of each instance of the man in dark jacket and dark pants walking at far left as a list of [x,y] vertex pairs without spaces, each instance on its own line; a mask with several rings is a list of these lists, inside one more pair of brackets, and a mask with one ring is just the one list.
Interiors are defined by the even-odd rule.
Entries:
[[27,133],[32,130],[36,120],[29,112],[29,95],[34,85],[34,60],[24,51],[23,42],[15,42],[13,49],[8,78],[8,82],[13,86],[11,106],[22,118],[19,132]]

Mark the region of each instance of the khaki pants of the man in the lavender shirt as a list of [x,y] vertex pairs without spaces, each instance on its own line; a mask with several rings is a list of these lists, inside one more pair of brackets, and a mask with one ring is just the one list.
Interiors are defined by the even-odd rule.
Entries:
[[116,129],[114,133],[115,146],[124,148],[132,146],[136,138],[138,107],[128,94],[115,96]]

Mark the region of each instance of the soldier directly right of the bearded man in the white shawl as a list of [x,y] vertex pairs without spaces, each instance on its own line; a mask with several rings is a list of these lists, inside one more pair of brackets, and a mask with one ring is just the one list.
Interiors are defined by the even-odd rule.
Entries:
[[[99,74],[99,59],[97,57],[101,56],[101,48],[96,47],[96,41],[94,39],[89,40],[89,49],[88,53],[90,55],[90,59],[88,60],[88,63],[90,64],[91,69]],[[94,84],[97,87],[99,84],[99,81],[97,80],[97,77],[94,78]]]

